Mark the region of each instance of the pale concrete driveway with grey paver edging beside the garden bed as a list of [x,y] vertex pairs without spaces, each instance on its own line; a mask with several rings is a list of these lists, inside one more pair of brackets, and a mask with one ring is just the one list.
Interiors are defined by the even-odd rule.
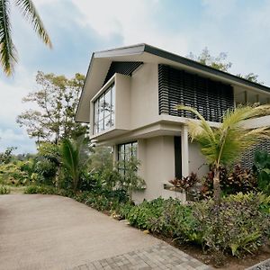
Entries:
[[[186,269],[207,269],[165,242],[72,199],[41,194],[0,196],[0,269],[173,269],[176,266],[168,265],[166,259],[158,265],[158,252],[163,252],[171,262],[173,259],[168,256],[183,258],[178,265],[193,265]],[[144,257],[139,258],[140,253]],[[161,268],[163,263],[167,266]]]

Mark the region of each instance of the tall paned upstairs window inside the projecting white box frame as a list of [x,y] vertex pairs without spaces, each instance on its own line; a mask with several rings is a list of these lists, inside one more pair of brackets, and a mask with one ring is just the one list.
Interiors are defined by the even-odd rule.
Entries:
[[94,134],[114,126],[115,87],[111,85],[94,101]]

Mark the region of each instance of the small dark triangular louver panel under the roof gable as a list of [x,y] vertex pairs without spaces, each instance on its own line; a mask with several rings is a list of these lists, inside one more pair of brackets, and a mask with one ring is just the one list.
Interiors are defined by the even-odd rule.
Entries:
[[120,73],[123,75],[130,76],[132,72],[138,68],[142,62],[116,62],[112,61],[112,64],[108,70],[107,76],[104,80],[103,85],[115,74]]

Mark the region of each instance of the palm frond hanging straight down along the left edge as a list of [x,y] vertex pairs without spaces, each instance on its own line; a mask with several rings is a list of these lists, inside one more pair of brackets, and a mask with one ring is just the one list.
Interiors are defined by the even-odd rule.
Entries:
[[11,37],[10,3],[0,0],[0,62],[7,76],[12,75],[17,61],[17,51]]

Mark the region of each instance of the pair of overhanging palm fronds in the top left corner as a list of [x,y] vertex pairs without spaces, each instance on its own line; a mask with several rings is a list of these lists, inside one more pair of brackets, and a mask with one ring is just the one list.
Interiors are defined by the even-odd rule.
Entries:
[[[17,50],[14,46],[10,23],[10,0],[0,0],[0,63],[7,76],[13,74],[17,62]],[[31,0],[14,0],[27,21],[32,24],[40,39],[51,48],[49,34],[45,30],[34,4]]]

